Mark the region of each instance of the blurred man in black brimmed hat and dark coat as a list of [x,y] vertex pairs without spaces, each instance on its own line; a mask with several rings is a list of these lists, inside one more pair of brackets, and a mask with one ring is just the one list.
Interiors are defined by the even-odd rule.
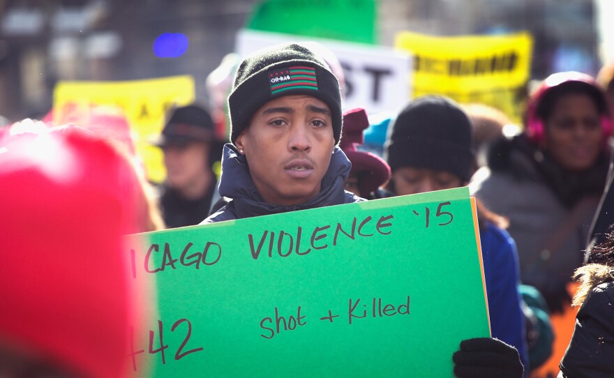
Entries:
[[167,178],[159,203],[166,226],[197,225],[219,197],[212,164],[221,156],[221,143],[213,119],[199,105],[177,107],[153,143],[164,152]]

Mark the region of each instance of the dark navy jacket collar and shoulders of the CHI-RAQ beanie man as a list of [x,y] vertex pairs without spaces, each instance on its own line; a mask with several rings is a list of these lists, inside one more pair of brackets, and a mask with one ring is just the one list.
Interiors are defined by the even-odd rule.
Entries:
[[220,195],[229,197],[232,201],[201,224],[365,201],[343,189],[351,167],[350,160],[347,160],[343,151],[335,147],[329,169],[322,179],[322,191],[317,196],[304,204],[292,206],[268,204],[260,197],[250,177],[246,157],[237,153],[232,144],[226,144],[222,158]]

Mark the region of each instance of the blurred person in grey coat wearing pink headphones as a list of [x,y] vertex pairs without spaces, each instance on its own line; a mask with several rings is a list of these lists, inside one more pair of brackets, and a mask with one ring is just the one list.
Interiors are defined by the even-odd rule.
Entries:
[[608,172],[611,119],[603,91],[581,73],[548,77],[527,105],[525,131],[502,139],[470,188],[510,221],[521,280],[551,312],[571,298],[567,283],[583,260]]

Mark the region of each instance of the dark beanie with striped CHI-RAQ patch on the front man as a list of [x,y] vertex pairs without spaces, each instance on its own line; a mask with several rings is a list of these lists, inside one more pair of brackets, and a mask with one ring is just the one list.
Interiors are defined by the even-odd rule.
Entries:
[[297,43],[260,50],[241,62],[228,96],[232,143],[262,105],[274,98],[300,94],[329,105],[338,143],[342,123],[339,82],[324,60]]

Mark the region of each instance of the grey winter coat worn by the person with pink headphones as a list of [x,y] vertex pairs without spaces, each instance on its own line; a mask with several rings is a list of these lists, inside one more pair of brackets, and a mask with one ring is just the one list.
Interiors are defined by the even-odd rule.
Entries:
[[[495,144],[488,166],[472,178],[472,194],[488,209],[509,219],[508,231],[518,247],[521,280],[537,287],[549,305],[567,295],[565,283],[583,261],[588,228],[607,169],[608,159],[601,156],[585,172],[567,172],[525,135],[519,135]],[[581,199],[587,206],[583,206],[578,221],[564,236],[552,238]],[[547,250],[552,245],[549,239],[560,239],[557,251]],[[555,255],[551,258],[552,253]]]

